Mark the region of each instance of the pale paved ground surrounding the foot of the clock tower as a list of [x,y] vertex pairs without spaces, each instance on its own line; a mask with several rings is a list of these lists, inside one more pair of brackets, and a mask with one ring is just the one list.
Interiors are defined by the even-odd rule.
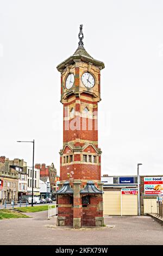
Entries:
[[149,216],[109,216],[114,228],[67,230],[48,228],[47,211],[28,213],[33,218],[0,220],[1,245],[163,245],[163,226]]

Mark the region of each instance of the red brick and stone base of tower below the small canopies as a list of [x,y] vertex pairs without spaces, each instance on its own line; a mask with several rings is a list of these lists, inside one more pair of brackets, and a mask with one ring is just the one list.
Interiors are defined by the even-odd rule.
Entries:
[[[68,225],[73,228],[102,227],[104,225],[103,194],[80,194],[80,197],[77,196],[77,193],[74,193],[73,196],[58,195],[57,225]],[[85,204],[85,199],[89,200],[88,204]]]

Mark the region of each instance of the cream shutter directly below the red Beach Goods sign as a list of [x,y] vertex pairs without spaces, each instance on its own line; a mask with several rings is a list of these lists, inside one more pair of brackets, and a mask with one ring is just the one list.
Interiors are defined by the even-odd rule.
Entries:
[[122,215],[137,215],[137,194],[122,194]]

